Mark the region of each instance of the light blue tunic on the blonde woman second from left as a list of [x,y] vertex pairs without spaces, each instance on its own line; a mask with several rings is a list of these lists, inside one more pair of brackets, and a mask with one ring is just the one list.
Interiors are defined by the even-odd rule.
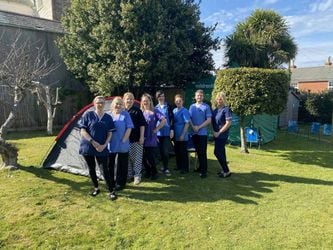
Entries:
[[122,139],[128,128],[134,128],[131,116],[125,110],[120,112],[118,118],[112,113],[110,113],[110,115],[116,127],[116,131],[112,133],[108,150],[110,153],[126,153],[129,151],[129,140],[123,143]]

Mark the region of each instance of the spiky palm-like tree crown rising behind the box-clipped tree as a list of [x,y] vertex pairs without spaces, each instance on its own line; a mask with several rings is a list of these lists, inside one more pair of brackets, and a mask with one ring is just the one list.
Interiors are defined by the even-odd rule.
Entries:
[[278,68],[296,56],[297,46],[286,21],[272,10],[256,10],[227,36],[229,67]]

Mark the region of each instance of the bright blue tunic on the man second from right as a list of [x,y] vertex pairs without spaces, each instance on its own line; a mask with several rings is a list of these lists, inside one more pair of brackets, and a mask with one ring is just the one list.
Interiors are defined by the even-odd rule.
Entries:
[[[195,126],[199,126],[204,121],[206,121],[207,118],[212,117],[212,112],[210,110],[210,107],[206,103],[201,103],[198,106],[195,103],[192,104],[190,106],[189,112],[192,124]],[[193,131],[193,134],[198,134],[198,135],[207,135],[207,133],[208,133],[207,126],[199,129],[198,132]]]

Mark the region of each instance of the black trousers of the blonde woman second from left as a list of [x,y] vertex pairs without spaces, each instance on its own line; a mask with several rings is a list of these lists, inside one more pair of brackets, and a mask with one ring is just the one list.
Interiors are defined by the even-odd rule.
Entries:
[[[117,164],[116,157],[118,155]],[[115,166],[117,166],[117,175],[115,178]],[[128,173],[128,152],[126,153],[111,153],[109,154],[109,169],[111,178],[115,178],[116,184],[120,186],[125,186],[127,181]]]

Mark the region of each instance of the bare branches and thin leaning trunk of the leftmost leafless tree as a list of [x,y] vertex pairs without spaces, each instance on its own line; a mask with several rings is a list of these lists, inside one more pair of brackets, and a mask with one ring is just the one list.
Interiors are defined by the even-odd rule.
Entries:
[[[1,37],[3,36],[4,34]],[[22,33],[18,32],[9,49],[1,48],[5,56],[0,62],[0,81],[2,85],[9,87],[13,105],[7,120],[0,127],[0,139],[5,139],[20,102],[28,92],[36,91],[35,82],[40,82],[59,67],[59,64],[52,62],[44,47],[38,41],[31,43],[29,39],[25,40]]]

